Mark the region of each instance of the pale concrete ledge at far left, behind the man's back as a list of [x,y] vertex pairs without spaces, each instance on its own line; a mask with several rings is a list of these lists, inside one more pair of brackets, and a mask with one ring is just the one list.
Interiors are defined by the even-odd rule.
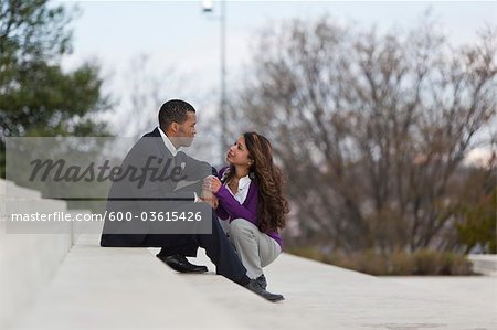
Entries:
[[[9,203],[9,205],[7,205]],[[17,211],[18,210],[18,211]],[[61,224],[62,234],[50,231],[39,234],[42,226],[18,227],[27,234],[7,232],[12,212],[66,211],[62,201],[41,199],[38,191],[21,188],[0,179],[0,328],[15,320],[33,298],[45,288],[56,268],[73,245],[72,224]],[[12,225],[12,223],[9,223]],[[25,225],[27,223],[19,223]],[[40,224],[40,225],[43,225]],[[15,225],[9,226],[12,230]],[[33,230],[34,228],[34,230]]]

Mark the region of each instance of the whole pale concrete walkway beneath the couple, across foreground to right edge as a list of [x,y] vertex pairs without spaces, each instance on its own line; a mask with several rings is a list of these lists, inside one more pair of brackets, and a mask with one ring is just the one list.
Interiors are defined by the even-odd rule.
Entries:
[[81,236],[51,285],[10,328],[497,329],[497,277],[472,277],[466,287],[467,278],[457,277],[413,284],[283,254],[266,277],[268,289],[286,300],[271,304],[214,275],[203,253],[192,262],[210,272],[184,275],[157,259],[157,249],[97,243],[96,235]]

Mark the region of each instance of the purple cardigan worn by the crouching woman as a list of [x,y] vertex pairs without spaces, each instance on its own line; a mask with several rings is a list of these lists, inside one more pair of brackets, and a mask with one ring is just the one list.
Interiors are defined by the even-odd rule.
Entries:
[[[223,177],[226,169],[228,167],[222,168],[219,171],[218,175],[220,179]],[[219,206],[215,209],[215,213],[221,220],[229,220],[231,222],[234,219],[241,217],[257,226],[258,188],[253,180],[248,187],[248,193],[243,204],[240,204],[240,202],[235,200],[224,184],[221,185],[220,190],[215,193],[215,196],[219,199]],[[276,241],[283,248],[283,239],[278,232],[269,232],[266,234]]]

